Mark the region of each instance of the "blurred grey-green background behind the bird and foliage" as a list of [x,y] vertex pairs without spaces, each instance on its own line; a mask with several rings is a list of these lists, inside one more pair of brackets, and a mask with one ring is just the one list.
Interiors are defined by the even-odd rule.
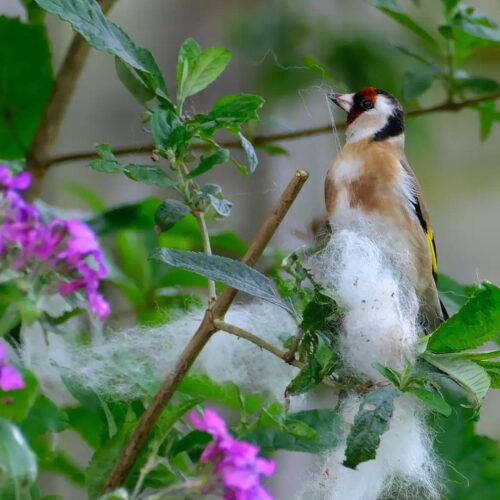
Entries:
[[[441,5],[436,0],[402,3],[426,26],[442,21]],[[498,0],[468,3],[497,13],[500,21]],[[24,15],[17,0],[0,0],[0,13]],[[403,75],[415,65],[396,45],[420,44],[364,0],[119,0],[110,17],[140,45],[151,49],[171,88],[177,52],[186,37],[194,37],[205,47],[229,48],[233,52],[229,70],[186,109],[207,110],[217,97],[227,93],[258,93],[266,99],[260,132],[328,123],[325,92],[332,86],[341,88],[337,82],[352,90],[374,85],[401,97]],[[52,17],[48,27],[57,68],[73,32]],[[336,82],[307,67],[307,56],[328,68]],[[469,66],[471,72],[500,78],[500,49],[476,52]],[[444,98],[443,91],[434,85],[418,104],[432,105]],[[91,150],[102,142],[112,147],[147,143],[141,112],[116,77],[112,58],[92,51],[56,152]],[[343,120],[340,114],[335,117]],[[407,124],[407,155],[432,216],[441,270],[462,282],[500,282],[499,144],[498,125],[487,140],[480,139],[474,110],[427,115]],[[292,249],[304,243],[300,235],[323,212],[323,179],[337,153],[336,138],[332,131],[280,146],[288,150],[288,156],[260,150],[260,165],[251,178],[242,177],[229,166],[211,174],[234,203],[232,216],[216,224],[237,228],[250,239],[294,170],[305,168],[311,178],[273,241],[275,247]],[[50,170],[42,198],[66,209],[85,210],[86,205],[75,195],[75,186],[93,190],[109,206],[150,194],[161,196],[159,190],[124,177],[91,171],[85,162],[71,162]],[[498,392],[488,396],[478,426],[479,432],[496,438],[500,438]],[[76,458],[82,454],[82,461],[87,459],[80,446],[70,448]],[[74,490],[66,490],[64,497],[84,498]]]

